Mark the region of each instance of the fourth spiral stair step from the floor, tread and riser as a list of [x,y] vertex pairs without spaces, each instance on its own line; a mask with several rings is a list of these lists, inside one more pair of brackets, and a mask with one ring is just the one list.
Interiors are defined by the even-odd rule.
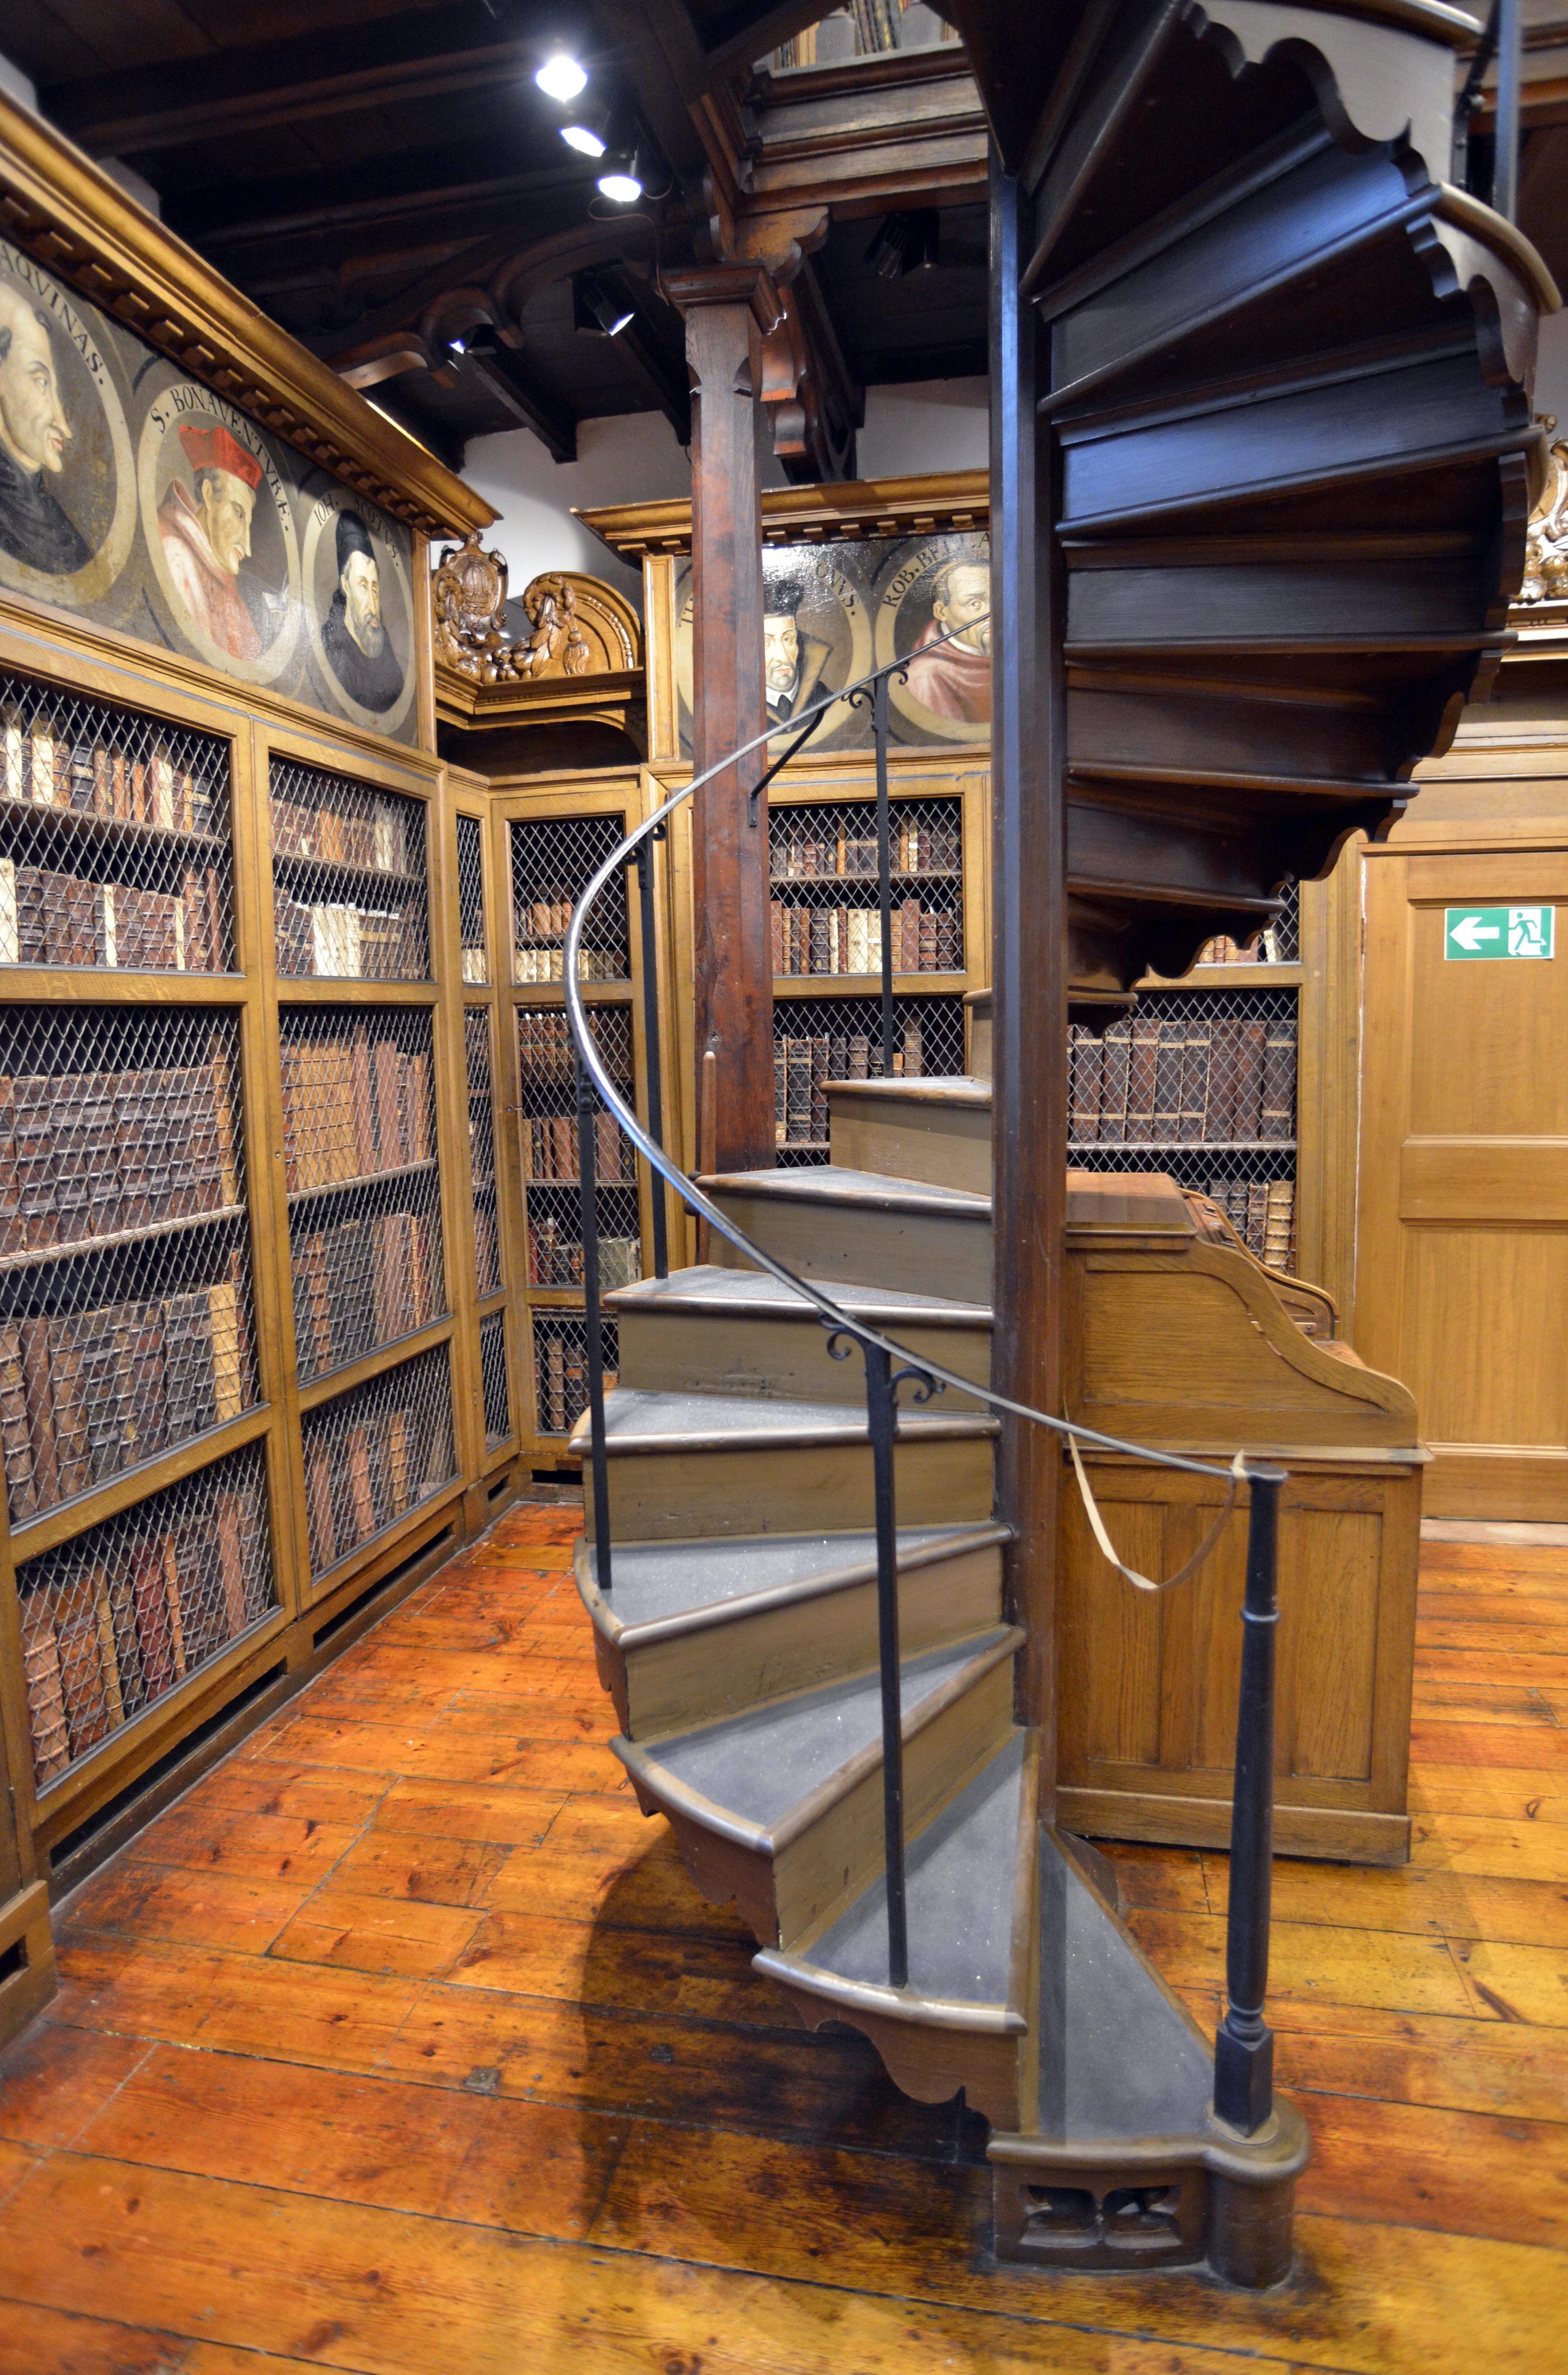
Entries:
[[[1010,1539],[1005,1525],[900,1527],[908,1655],[1000,1624]],[[599,1679],[634,1741],[824,1689],[877,1660],[872,1532],[615,1544],[608,1598],[584,1541],[575,1563]]]

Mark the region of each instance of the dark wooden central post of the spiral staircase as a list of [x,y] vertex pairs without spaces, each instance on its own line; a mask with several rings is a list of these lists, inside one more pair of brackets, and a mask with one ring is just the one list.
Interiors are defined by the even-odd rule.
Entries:
[[[991,166],[991,648],[995,983],[993,1382],[1062,1408],[1067,1206],[1067,788],[1055,435],[1036,418],[1038,328],[1019,294],[1029,202]],[[1062,1446],[1003,1423],[998,1515],[1017,1530],[1010,1603],[1029,1624],[1024,1720],[1055,1812],[1055,1534]]]

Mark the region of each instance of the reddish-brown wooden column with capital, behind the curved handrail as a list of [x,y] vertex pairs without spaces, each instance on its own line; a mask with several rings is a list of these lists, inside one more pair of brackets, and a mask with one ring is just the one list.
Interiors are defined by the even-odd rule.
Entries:
[[[687,316],[691,370],[691,765],[701,774],[767,724],[763,703],[763,337],[779,314],[760,264],[665,276]],[[772,1166],[772,940],[767,800],[755,750],[694,798],[696,1057],[717,1059],[720,1171]]]

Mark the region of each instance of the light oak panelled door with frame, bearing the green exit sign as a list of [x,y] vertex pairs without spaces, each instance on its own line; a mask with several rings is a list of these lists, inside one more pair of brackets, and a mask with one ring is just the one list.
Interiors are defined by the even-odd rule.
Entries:
[[1492,800],[1478,810],[1466,826],[1449,796],[1423,834],[1366,853],[1359,1335],[1416,1389],[1433,1515],[1556,1522],[1568,1344],[1547,1313],[1568,1299],[1568,971],[1561,950],[1447,960],[1444,907],[1561,907],[1568,810],[1554,831],[1535,803],[1535,848],[1497,848]]

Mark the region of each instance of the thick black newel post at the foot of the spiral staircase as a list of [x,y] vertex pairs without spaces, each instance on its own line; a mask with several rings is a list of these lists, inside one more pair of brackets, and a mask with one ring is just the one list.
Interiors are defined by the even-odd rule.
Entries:
[[1214,2040],[1214,2109],[1243,2135],[1257,2135],[1273,2111],[1273,2033],[1264,2021],[1264,1997],[1273,1879],[1273,1636],[1283,1482],[1283,1468],[1247,1468],[1247,1596],[1231,1800],[1226,2016]]

